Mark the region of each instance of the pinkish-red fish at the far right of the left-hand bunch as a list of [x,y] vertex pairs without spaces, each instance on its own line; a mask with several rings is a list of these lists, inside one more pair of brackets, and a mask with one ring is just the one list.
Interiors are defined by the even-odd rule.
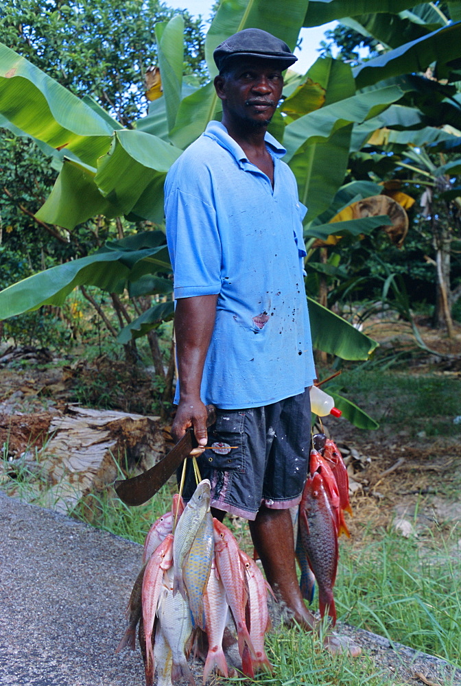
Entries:
[[239,550],[239,556],[242,565],[244,565],[248,582],[250,639],[253,648],[255,648],[255,659],[251,658],[248,648],[245,648],[242,667],[244,674],[252,677],[255,676],[254,670],[263,669],[271,673],[273,671],[264,650],[264,635],[272,626],[268,611],[268,589],[270,586],[255,560],[252,560],[244,550]]

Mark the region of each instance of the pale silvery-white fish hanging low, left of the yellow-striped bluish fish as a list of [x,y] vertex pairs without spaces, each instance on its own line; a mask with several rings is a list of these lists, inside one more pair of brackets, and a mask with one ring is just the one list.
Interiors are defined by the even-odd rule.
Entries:
[[193,674],[187,664],[191,646],[192,622],[189,604],[180,593],[173,592],[173,570],[165,578],[161,597],[158,601],[158,622],[169,648],[172,651],[172,681],[185,678],[191,686],[196,685]]

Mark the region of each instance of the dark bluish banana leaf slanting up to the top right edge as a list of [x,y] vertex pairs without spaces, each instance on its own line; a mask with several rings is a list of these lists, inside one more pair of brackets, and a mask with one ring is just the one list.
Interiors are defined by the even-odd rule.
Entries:
[[401,73],[426,71],[429,64],[447,64],[459,56],[461,22],[444,26],[353,69],[357,88],[365,88]]

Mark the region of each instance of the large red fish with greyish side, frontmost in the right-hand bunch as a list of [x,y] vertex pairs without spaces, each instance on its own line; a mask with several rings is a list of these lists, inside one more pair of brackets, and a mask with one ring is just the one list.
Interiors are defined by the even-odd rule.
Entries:
[[322,474],[318,471],[305,483],[299,510],[301,542],[318,584],[320,615],[336,623],[333,587],[338,569],[338,536],[334,514]]

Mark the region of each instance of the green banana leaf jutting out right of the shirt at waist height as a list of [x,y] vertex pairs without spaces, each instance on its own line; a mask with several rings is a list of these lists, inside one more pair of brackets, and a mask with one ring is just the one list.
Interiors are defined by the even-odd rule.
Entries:
[[368,359],[379,345],[316,300],[308,297],[307,302],[314,348],[342,359]]

